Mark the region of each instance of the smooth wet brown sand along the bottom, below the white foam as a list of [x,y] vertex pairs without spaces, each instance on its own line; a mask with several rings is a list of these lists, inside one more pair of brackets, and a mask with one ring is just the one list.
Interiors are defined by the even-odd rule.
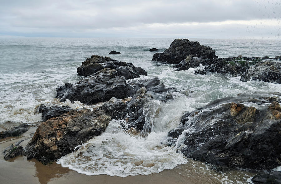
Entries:
[[[2,151],[22,139],[20,146],[25,146],[35,132],[36,127],[20,137],[11,137],[0,139],[0,151]],[[19,183],[41,183],[41,184],[62,184],[62,183],[99,183],[99,184],[123,184],[123,183],[159,183],[159,184],[220,184],[220,183],[248,183],[247,179],[254,176],[254,173],[243,172],[239,170],[226,173],[216,172],[210,169],[210,165],[197,162],[192,159],[185,165],[180,165],[171,170],[164,170],[160,173],[150,174],[148,176],[138,175],[129,177],[111,177],[108,175],[86,176],[76,171],[62,167],[57,163],[43,165],[36,159],[27,160],[24,156],[18,156],[8,161],[0,158],[0,183],[19,184]]]

